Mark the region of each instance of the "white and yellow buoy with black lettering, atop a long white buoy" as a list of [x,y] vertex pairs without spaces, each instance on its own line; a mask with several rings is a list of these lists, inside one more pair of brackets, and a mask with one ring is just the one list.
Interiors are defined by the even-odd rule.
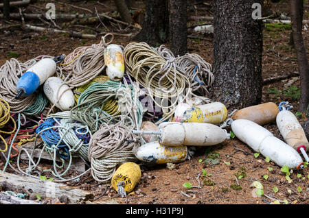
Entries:
[[182,122],[218,124],[225,119],[227,119],[225,105],[220,102],[213,102],[185,110]]

